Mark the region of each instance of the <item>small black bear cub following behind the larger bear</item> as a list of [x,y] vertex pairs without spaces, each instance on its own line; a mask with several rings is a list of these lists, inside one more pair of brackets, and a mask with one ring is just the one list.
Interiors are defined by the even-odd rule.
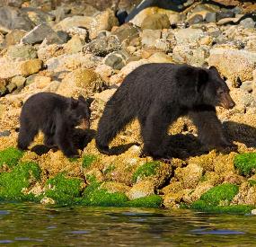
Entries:
[[18,147],[25,150],[41,130],[44,144],[57,146],[67,157],[77,156],[72,140],[75,127],[90,128],[89,104],[56,93],[36,93],[22,106]]

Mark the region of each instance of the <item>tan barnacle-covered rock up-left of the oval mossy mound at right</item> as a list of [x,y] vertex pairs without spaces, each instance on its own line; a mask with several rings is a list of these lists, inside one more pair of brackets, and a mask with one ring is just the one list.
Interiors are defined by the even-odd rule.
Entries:
[[194,189],[198,185],[202,175],[203,168],[196,163],[190,163],[187,167],[177,168],[175,177],[181,181],[186,189]]

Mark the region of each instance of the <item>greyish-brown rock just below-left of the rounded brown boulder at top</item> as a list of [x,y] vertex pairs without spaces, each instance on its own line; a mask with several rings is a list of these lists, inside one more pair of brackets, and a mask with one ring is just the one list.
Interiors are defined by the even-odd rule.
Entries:
[[123,40],[130,41],[137,38],[139,31],[132,23],[125,23],[113,31],[112,34],[116,35],[119,38],[119,41],[122,42]]

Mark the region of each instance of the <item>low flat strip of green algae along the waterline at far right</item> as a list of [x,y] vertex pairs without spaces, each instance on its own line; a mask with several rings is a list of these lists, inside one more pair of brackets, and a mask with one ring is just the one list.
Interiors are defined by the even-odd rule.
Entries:
[[255,206],[251,205],[229,205],[229,206],[210,206],[204,200],[198,200],[191,204],[191,209],[207,213],[222,214],[249,214]]

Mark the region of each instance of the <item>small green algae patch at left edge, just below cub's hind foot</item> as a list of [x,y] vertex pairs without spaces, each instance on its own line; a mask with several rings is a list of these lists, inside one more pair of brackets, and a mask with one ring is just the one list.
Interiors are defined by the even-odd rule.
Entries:
[[13,167],[19,162],[23,154],[23,151],[15,147],[9,147],[0,151],[0,167],[3,164]]

